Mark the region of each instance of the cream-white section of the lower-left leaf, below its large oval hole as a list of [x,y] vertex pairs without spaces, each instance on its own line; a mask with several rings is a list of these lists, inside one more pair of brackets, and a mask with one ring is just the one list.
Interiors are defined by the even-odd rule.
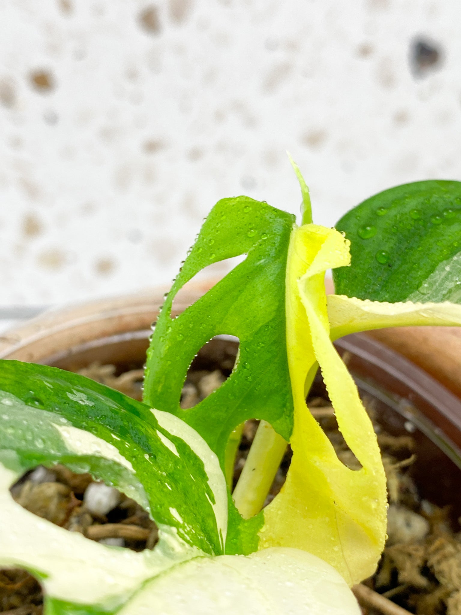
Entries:
[[34,574],[45,590],[45,609],[50,603],[56,615],[115,613],[145,581],[202,555],[171,531],[143,553],[90,541],[17,504],[9,492],[15,478],[0,463],[0,566]]

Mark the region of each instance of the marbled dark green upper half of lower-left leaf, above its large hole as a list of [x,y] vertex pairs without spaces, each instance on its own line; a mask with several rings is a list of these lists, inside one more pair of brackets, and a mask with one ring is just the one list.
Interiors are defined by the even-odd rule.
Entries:
[[0,423],[0,461],[15,475],[57,462],[92,472],[190,546],[223,552],[225,478],[207,443],[180,419],[84,376],[2,360]]

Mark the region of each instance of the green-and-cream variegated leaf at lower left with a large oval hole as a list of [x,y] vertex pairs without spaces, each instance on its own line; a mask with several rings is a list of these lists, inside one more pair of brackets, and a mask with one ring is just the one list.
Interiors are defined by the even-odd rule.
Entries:
[[[111,611],[178,562],[223,552],[223,472],[203,438],[175,416],[84,376],[2,360],[0,421],[0,565],[38,573],[47,600]],[[156,549],[111,549],[13,501],[9,487],[25,470],[58,462],[91,472],[149,510],[160,528]]]

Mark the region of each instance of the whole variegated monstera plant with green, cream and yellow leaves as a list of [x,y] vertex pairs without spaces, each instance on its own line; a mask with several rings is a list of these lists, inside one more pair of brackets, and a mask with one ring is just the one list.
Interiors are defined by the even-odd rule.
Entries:
[[[302,226],[248,197],[215,205],[168,294],[146,363],[144,402],[83,376],[0,362],[0,565],[41,580],[47,615],[358,613],[349,590],[384,546],[386,486],[357,388],[332,341],[353,331],[461,324],[461,183],[425,181],[366,200],[336,229]],[[246,255],[176,319],[178,290]],[[335,295],[325,295],[333,268]],[[240,339],[230,378],[199,405],[179,399],[194,355]],[[360,470],[345,467],[305,405],[320,365]],[[261,419],[230,493],[242,424]],[[286,443],[286,483],[263,510]],[[34,516],[9,488],[59,462],[149,511],[154,550],[109,547]]]

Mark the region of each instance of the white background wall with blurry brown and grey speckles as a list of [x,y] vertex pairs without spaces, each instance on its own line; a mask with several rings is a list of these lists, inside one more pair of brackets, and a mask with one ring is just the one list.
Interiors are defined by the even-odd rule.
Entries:
[[[0,304],[168,282],[216,200],[461,179],[454,0],[2,0]],[[415,39],[439,62],[411,70]]]

